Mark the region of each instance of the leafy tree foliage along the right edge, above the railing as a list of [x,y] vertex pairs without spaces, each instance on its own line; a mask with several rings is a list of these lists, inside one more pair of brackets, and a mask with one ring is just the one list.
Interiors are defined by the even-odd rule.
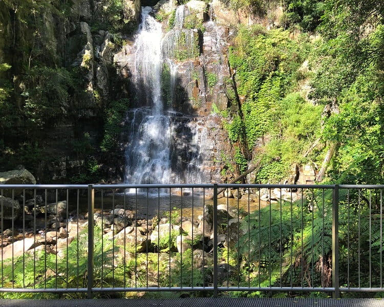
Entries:
[[[379,183],[383,178],[382,96],[384,7],[380,1],[356,6],[349,0],[325,1],[311,65],[316,66],[311,98],[333,108],[323,138],[338,144],[331,180]],[[348,20],[348,23],[345,22]]]

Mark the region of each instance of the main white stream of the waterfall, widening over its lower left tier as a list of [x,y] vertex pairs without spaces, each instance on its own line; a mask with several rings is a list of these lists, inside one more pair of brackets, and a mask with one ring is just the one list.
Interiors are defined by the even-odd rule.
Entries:
[[131,135],[126,149],[126,182],[133,184],[170,182],[170,128],[161,99],[161,24],[142,8],[140,31],[132,75],[142,107],[131,111]]

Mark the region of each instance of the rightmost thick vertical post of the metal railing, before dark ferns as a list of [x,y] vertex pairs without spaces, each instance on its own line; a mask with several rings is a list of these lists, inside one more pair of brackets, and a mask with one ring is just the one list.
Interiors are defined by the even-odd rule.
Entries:
[[338,272],[338,185],[335,185],[332,197],[332,287],[335,288],[333,298],[340,297]]

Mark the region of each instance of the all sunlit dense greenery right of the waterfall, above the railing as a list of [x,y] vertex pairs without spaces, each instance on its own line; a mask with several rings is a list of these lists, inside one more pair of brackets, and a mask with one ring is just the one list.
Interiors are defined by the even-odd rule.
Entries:
[[288,1],[285,9],[287,30],[240,27],[230,50],[245,96],[225,120],[230,140],[246,160],[262,161],[256,182],[280,182],[295,163],[314,165],[318,181],[328,168],[330,182],[382,182],[383,5]]

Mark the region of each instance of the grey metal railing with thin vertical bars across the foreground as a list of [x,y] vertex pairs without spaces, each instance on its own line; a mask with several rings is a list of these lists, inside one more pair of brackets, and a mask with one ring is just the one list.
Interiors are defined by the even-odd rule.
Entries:
[[0,292],[383,292],[383,189],[0,185]]

